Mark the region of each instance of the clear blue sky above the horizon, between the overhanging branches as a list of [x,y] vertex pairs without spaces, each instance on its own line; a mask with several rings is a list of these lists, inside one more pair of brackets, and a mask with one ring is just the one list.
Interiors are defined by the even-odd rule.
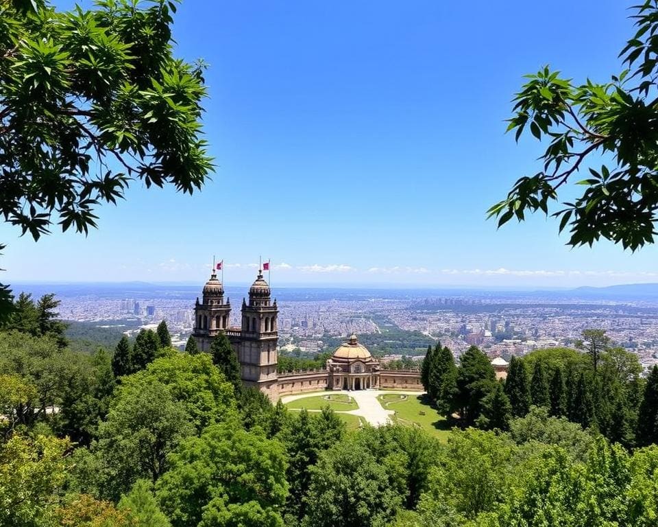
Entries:
[[259,255],[280,284],[658,281],[655,247],[572,249],[541,215],[485,220],[537,169],[540,146],[504,134],[522,75],[608,80],[628,14],[619,0],[186,0],[176,54],[210,65],[212,181],[192,197],[135,183],[86,238],[0,226],[2,279],[202,282],[215,254],[227,282]]

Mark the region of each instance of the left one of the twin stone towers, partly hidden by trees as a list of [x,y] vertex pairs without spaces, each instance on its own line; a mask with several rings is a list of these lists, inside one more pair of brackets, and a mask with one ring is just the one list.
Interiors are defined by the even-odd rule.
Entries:
[[201,351],[210,351],[212,338],[220,331],[228,329],[231,314],[231,303],[226,299],[224,303],[224,288],[217,279],[215,270],[212,270],[210,279],[204,285],[203,301],[194,306],[194,329],[192,336],[197,341]]

